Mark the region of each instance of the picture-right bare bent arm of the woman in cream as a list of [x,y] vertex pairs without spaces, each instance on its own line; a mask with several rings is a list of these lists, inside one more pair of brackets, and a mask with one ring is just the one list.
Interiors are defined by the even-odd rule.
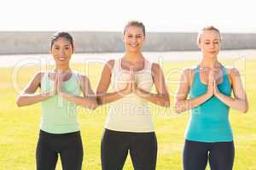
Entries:
[[160,68],[160,65],[152,65],[152,75],[154,78],[154,87],[156,89],[157,94],[149,93],[141,88],[137,88],[137,90],[135,90],[135,93],[143,99],[147,99],[151,103],[165,107],[170,107],[169,93],[166,88],[165,77],[163,71]]

